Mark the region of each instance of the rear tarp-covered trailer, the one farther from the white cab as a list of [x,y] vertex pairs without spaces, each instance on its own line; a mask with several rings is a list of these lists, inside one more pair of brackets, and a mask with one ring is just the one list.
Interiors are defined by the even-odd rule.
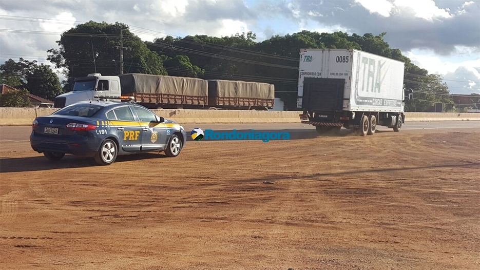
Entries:
[[208,80],[208,106],[226,109],[272,109],[275,85],[257,82]]

